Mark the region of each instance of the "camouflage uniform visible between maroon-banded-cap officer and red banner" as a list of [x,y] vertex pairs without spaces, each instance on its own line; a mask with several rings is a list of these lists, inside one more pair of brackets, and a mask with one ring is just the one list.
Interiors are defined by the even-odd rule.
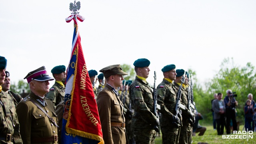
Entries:
[[64,101],[65,86],[62,86],[58,82],[55,82],[50,91],[46,94],[46,98],[52,100],[54,108],[61,102]]

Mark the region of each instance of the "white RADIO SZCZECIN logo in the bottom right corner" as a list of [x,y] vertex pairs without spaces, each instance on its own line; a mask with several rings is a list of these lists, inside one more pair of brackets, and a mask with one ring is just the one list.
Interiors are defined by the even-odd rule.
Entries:
[[[248,131],[234,131],[234,135],[222,135],[223,139],[246,139],[248,141],[249,138],[253,138],[253,132],[250,130]],[[240,134],[240,135],[236,135]]]

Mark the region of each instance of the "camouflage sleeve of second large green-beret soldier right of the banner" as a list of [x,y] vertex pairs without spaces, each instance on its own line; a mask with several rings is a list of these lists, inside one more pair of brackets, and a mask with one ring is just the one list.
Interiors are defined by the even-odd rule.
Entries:
[[167,89],[166,88],[160,88],[158,86],[157,88],[157,104],[160,105],[160,112],[161,114],[164,114],[164,115],[169,115],[170,117],[173,116],[173,114],[166,108],[166,106],[164,105],[164,99],[166,97],[166,92],[167,92]]

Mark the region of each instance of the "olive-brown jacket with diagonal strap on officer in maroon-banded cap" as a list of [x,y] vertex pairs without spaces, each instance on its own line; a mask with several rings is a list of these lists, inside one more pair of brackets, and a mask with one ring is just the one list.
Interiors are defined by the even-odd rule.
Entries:
[[[48,98],[42,99],[30,92],[17,105],[20,135],[24,144],[58,144],[54,140],[54,137],[58,134],[57,126],[32,101],[38,104],[58,124],[52,101]],[[52,141],[45,142],[46,140]]]

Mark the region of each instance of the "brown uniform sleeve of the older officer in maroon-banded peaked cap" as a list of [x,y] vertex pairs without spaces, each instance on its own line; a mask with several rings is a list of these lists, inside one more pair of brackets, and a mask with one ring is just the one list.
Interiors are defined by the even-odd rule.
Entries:
[[20,123],[20,135],[24,144],[30,144],[31,115],[30,109],[25,102],[19,102],[16,108]]

